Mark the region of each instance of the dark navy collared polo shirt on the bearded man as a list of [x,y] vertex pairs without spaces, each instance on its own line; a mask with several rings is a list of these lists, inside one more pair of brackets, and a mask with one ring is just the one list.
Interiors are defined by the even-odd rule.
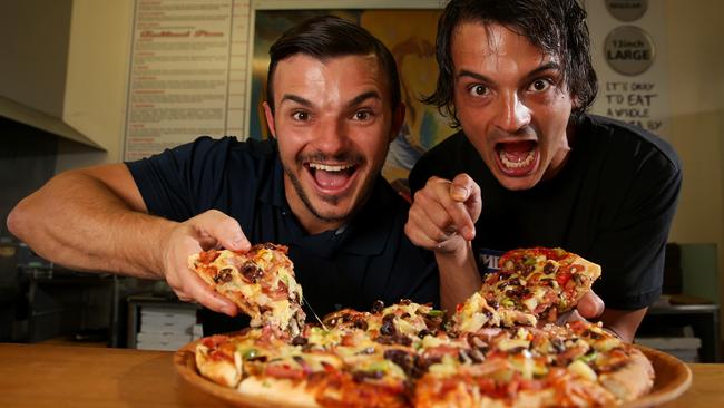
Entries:
[[[286,202],[274,140],[199,137],[127,166],[151,214],[185,221],[218,210],[236,218],[252,243],[287,245],[304,298],[320,317],[369,310],[375,300],[439,303],[434,256],[404,235],[409,204],[382,176],[345,227],[310,235]],[[248,320],[204,310],[203,323],[207,336]]]

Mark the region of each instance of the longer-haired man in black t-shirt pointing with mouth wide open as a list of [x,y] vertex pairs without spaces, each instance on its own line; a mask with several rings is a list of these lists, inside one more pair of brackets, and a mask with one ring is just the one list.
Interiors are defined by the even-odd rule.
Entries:
[[585,114],[597,91],[585,17],[575,0],[448,3],[427,101],[462,129],[411,172],[405,232],[436,252],[443,308],[502,251],[560,246],[597,262],[600,298],[578,312],[632,341],[661,294],[681,166],[656,136]]

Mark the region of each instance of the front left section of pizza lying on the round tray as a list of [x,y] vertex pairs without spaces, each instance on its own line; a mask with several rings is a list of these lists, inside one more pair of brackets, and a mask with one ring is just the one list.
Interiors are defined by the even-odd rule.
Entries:
[[381,344],[368,334],[307,324],[290,341],[268,327],[247,329],[203,339],[196,366],[209,380],[235,388],[250,406],[409,407],[414,349]]

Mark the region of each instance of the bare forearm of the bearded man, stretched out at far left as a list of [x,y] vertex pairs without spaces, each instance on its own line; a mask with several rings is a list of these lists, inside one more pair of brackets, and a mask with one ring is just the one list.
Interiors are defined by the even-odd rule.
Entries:
[[52,178],[8,217],[10,231],[49,261],[153,279],[163,278],[159,245],[173,225],[135,211],[82,172]]

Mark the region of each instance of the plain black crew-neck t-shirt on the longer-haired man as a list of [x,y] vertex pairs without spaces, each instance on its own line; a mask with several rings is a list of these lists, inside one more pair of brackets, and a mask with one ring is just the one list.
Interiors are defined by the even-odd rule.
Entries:
[[682,183],[673,148],[633,126],[587,115],[568,162],[526,191],[498,183],[459,132],[429,150],[410,174],[412,191],[437,175],[467,173],[479,185],[482,213],[473,250],[481,271],[502,251],[560,246],[601,265],[594,291],[612,309],[634,310],[661,294],[664,250]]

